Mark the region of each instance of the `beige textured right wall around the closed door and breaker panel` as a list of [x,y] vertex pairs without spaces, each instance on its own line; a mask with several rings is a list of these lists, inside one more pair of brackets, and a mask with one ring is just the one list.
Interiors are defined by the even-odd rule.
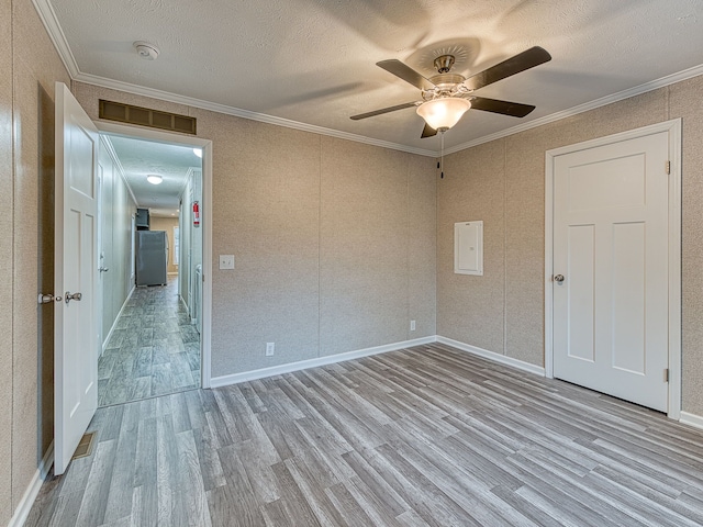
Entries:
[[[546,150],[676,117],[683,121],[682,406],[703,415],[703,77],[448,156],[437,183],[437,333],[543,366]],[[487,245],[502,244],[505,258],[484,266],[505,277],[502,291],[490,288],[495,298],[482,293],[490,277],[461,280],[451,269],[451,223],[465,220],[458,211],[472,210],[476,201],[492,203],[487,216],[466,218],[493,222],[495,209],[504,211],[504,228],[486,232]],[[481,304],[478,314],[467,311],[473,302]],[[504,327],[496,323],[501,307]]]

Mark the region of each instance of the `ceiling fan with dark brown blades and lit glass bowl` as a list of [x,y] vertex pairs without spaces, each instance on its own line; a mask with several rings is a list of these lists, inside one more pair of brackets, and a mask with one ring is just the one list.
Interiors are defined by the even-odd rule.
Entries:
[[422,100],[360,113],[353,115],[352,119],[358,121],[405,108],[417,106],[417,114],[425,120],[425,127],[421,137],[432,137],[437,132],[445,132],[457,124],[470,108],[513,117],[524,117],[535,106],[520,102],[487,99],[475,96],[473,92],[484,86],[492,85],[549,60],[551,60],[551,55],[542,47],[535,46],[466,78],[462,75],[449,72],[455,63],[454,55],[442,55],[434,60],[437,75],[429,77],[429,79],[426,79],[400,60],[381,60],[376,65],[405,82],[410,82],[415,88],[420,88]]

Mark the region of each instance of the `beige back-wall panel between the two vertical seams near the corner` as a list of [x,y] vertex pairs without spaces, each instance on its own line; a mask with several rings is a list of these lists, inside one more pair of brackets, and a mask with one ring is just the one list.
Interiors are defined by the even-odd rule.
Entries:
[[323,137],[321,192],[320,355],[405,340],[408,156]]

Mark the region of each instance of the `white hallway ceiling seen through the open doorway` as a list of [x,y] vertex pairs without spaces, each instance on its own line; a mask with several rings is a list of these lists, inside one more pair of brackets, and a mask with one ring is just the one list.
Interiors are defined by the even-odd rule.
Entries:
[[[189,169],[201,168],[201,159],[193,149],[127,137],[110,136],[109,139],[137,205],[149,209],[153,215],[177,216],[179,194]],[[152,173],[164,178],[160,184],[146,180]]]

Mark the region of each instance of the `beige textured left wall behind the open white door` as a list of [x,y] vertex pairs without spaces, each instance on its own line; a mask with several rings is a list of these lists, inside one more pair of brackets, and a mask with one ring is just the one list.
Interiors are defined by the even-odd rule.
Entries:
[[[5,5],[3,3],[3,9]],[[2,23],[8,20],[4,14]],[[9,472],[1,471],[0,519],[4,519],[5,511],[5,474],[10,473],[12,479],[11,511],[14,511],[54,434],[53,314],[51,305],[37,305],[35,294],[53,284],[54,82],[69,82],[32,3],[12,2],[10,20],[12,45],[3,44],[1,53],[7,60],[4,54],[12,49],[14,165],[10,172],[13,182],[0,193],[3,200],[5,195],[14,200],[16,211],[5,215],[16,218],[13,224],[3,225],[4,232],[11,232],[12,236],[3,237],[2,244],[11,240],[12,247],[3,246],[1,250],[2,266],[7,267],[3,276],[12,277],[12,292],[5,296],[12,299],[12,330],[5,333],[5,340],[12,344],[12,402],[9,405],[12,408],[12,466]],[[0,86],[5,81],[3,78]],[[4,94],[3,90],[2,97]],[[5,111],[4,99],[2,104]],[[4,145],[2,153],[3,156],[7,153]],[[9,172],[3,170],[4,173]],[[12,210],[12,205],[5,206]],[[3,368],[2,374],[4,371]],[[1,384],[4,390],[5,382]],[[7,428],[2,428],[4,434]],[[3,451],[5,445],[3,437],[0,447]],[[7,459],[4,452],[0,458]]]

